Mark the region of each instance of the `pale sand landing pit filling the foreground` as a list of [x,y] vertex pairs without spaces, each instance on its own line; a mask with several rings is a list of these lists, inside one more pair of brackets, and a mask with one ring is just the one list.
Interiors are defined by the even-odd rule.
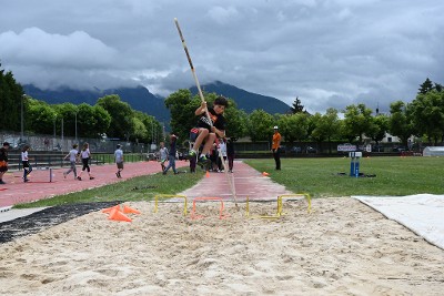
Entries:
[[[285,201],[281,218],[225,203],[131,203],[0,245],[1,295],[443,295],[444,251],[352,198]],[[276,204],[251,203],[250,214]],[[189,211],[191,203],[189,204]]]

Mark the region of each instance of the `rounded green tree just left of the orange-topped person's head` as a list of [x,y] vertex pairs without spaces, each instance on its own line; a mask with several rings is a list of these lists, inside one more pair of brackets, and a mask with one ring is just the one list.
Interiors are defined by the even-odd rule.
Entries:
[[251,141],[270,141],[273,135],[273,116],[262,109],[254,110],[249,115],[248,127]]

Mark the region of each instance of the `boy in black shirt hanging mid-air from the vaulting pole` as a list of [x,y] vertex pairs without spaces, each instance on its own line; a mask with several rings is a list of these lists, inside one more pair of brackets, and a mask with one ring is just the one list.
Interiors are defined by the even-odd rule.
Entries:
[[[193,147],[190,150],[190,157],[196,157],[199,147],[204,143],[202,153],[198,160],[198,164],[203,166],[206,162],[206,154],[210,152],[216,135],[219,137],[223,137],[225,135],[225,118],[223,116],[223,112],[228,106],[228,100],[220,95],[214,100],[213,108],[206,108],[206,102],[202,102],[202,104],[195,110],[195,115],[201,115],[198,121],[198,133],[195,139],[191,139],[194,141]],[[209,114],[205,114],[205,110],[208,110]],[[209,122],[209,118],[211,122]]]

